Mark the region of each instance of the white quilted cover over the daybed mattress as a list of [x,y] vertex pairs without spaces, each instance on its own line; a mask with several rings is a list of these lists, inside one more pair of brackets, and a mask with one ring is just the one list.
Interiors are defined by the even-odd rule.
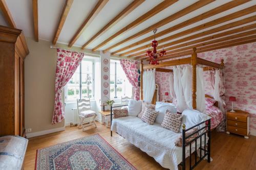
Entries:
[[[182,147],[176,147],[174,142],[181,133],[161,128],[157,123],[147,125],[136,116],[114,119],[111,130],[153,157],[161,166],[178,170],[178,164],[182,162]],[[202,146],[203,141],[204,138],[202,138]],[[197,148],[200,146],[199,142],[198,139]],[[192,148],[194,151],[194,143]],[[187,156],[189,156],[189,147],[186,147]]]

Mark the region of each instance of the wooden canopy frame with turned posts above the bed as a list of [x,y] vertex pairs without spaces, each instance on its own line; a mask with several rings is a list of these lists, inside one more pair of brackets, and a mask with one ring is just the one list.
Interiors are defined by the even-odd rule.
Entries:
[[224,68],[224,60],[221,60],[221,63],[215,63],[211,62],[202,58],[197,57],[197,48],[193,48],[193,54],[191,57],[177,59],[177,60],[171,60],[171,61],[165,61],[161,62],[158,65],[143,65],[143,62],[141,60],[140,63],[140,76],[141,76],[141,82],[140,82],[140,99],[143,100],[143,71],[144,69],[154,69],[156,68],[156,71],[160,72],[173,72],[172,69],[167,68],[161,68],[161,67],[167,67],[167,66],[176,66],[176,65],[183,65],[183,64],[190,64],[192,66],[192,106],[193,109],[197,110],[197,65],[205,65],[203,67],[204,71],[207,71],[209,69],[223,69]]

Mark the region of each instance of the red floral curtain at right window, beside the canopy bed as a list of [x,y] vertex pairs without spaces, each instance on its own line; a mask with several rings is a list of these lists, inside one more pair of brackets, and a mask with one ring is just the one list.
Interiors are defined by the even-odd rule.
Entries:
[[139,93],[139,84],[138,84],[138,61],[132,61],[132,60],[124,60],[120,59],[120,64],[123,68],[123,71],[125,72],[125,75],[129,82],[132,84],[134,88],[134,99],[140,100],[140,93]]

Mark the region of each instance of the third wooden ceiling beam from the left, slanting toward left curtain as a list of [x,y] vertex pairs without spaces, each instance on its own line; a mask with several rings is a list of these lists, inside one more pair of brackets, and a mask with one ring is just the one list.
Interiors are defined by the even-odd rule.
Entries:
[[66,21],[66,18],[67,18],[68,14],[69,14],[69,10],[70,10],[70,8],[71,8],[71,6],[73,4],[73,1],[74,0],[66,0],[66,2],[65,2],[65,5],[64,5],[64,7],[62,9],[62,12],[61,12],[61,15],[60,15],[60,18],[59,18],[58,27],[57,27],[57,29],[55,31],[55,34],[54,34],[54,37],[53,37],[53,40],[52,40],[53,45],[56,44],[56,42],[57,42],[57,40],[59,38],[59,34],[60,34],[60,32],[61,32],[61,30],[63,28],[63,25],[64,25],[64,23]]

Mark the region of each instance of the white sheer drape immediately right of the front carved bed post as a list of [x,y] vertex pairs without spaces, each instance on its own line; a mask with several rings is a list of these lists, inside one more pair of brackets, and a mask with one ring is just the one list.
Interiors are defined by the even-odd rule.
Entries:
[[206,113],[204,89],[204,70],[203,67],[197,66],[197,110],[202,113]]

